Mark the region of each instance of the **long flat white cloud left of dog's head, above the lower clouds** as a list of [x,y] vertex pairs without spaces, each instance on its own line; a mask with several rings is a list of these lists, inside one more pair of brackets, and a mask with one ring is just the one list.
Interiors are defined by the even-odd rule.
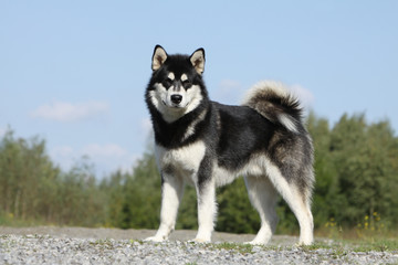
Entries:
[[87,102],[71,104],[64,102],[54,102],[49,105],[38,107],[31,112],[34,118],[43,118],[56,121],[77,121],[91,118],[108,112],[109,106],[104,102]]

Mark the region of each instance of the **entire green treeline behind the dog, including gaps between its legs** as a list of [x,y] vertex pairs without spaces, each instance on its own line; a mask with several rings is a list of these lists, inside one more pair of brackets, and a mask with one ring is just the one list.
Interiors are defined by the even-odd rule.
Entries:
[[[331,126],[311,114],[307,127],[315,146],[316,227],[331,219],[355,227],[374,213],[386,227],[398,221],[398,138],[389,121],[367,123],[364,115],[344,115]],[[132,173],[114,172],[98,181],[87,161],[62,171],[39,138],[18,139],[11,131],[0,141],[0,225],[35,224],[157,229],[160,178],[150,151]],[[255,233],[259,216],[242,179],[218,190],[218,231]],[[196,194],[187,188],[177,229],[197,229]],[[279,229],[296,231],[286,204],[277,206]],[[379,221],[379,220],[378,220]]]

